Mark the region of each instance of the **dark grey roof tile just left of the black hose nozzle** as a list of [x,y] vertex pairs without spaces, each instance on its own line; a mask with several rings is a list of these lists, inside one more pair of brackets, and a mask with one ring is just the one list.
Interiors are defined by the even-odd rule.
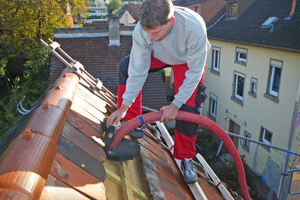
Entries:
[[68,122],[65,123],[62,135],[100,162],[106,160],[106,154],[103,148],[96,142],[87,138]]

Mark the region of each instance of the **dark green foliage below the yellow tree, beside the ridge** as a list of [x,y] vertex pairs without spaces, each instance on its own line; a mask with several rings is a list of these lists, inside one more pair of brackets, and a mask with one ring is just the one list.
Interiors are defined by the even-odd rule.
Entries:
[[0,100],[0,136],[21,116],[17,112],[17,105],[22,98],[26,96],[22,105],[25,109],[29,109],[47,89],[49,56],[50,52],[46,47],[35,49],[30,55],[30,60],[24,64],[23,77],[11,81],[13,84],[9,95]]

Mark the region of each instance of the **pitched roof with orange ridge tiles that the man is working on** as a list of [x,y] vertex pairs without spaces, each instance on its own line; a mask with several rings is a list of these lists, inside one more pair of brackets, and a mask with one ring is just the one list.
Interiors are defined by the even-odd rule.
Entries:
[[[194,199],[168,148],[149,129],[133,160],[106,159],[101,124],[113,108],[104,96],[116,101],[65,69],[27,120],[1,140],[0,198]],[[199,174],[207,198],[223,199]]]

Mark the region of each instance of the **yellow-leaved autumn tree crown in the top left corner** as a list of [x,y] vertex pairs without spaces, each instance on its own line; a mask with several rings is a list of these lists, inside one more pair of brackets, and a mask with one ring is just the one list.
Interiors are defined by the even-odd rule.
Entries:
[[54,28],[70,27],[67,5],[74,22],[87,15],[85,0],[0,0],[1,38],[16,53],[30,52],[40,39],[53,38]]

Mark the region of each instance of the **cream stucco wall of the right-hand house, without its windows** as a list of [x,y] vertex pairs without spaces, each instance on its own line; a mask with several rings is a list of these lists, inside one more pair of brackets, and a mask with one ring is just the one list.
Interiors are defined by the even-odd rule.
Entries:
[[[273,133],[271,145],[286,149],[299,83],[299,53],[217,40],[210,40],[210,42],[212,47],[221,49],[220,72],[216,74],[210,71],[212,69],[212,51],[210,51],[204,82],[207,86],[208,98],[203,106],[203,115],[208,116],[209,95],[213,94],[217,96],[215,120],[225,131],[229,131],[229,123],[224,117],[228,117],[229,121],[232,120],[240,126],[241,136],[244,136],[244,132],[247,131],[251,134],[251,139],[257,141],[260,139],[261,128],[264,127]],[[247,49],[246,66],[234,62],[237,47]],[[271,59],[280,60],[283,63],[278,102],[264,95],[267,91]],[[242,105],[231,98],[234,72],[245,76]],[[256,97],[248,94],[252,77],[258,80]],[[298,150],[300,136],[300,131],[297,130],[292,145],[292,150],[295,152]],[[248,166],[258,175],[263,176],[270,188],[277,193],[285,154],[274,149],[268,151],[255,143],[250,143],[248,152],[242,147],[242,140],[239,140],[238,151],[240,155],[246,156]],[[292,167],[292,161],[291,158],[290,167]]]

